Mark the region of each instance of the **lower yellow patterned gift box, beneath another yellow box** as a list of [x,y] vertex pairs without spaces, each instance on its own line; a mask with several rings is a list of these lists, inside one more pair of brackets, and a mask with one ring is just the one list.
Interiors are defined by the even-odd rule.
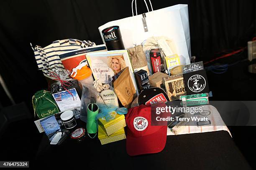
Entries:
[[102,125],[98,126],[98,138],[100,140],[101,145],[105,145],[107,143],[115,142],[118,140],[126,139],[124,128],[116,131],[112,135],[107,135]]

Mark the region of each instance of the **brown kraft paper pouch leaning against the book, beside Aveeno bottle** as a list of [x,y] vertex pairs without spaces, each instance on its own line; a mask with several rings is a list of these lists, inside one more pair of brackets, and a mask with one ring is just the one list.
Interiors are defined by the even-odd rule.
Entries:
[[114,91],[122,105],[129,108],[136,94],[131,80],[129,67],[126,67],[120,76],[114,81]]

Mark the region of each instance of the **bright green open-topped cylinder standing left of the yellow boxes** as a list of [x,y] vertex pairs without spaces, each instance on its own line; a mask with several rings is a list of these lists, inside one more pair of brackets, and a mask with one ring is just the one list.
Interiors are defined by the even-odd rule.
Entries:
[[[95,120],[96,115],[99,113],[99,107],[95,103],[90,103],[87,107],[87,133],[98,132],[98,120]],[[89,134],[88,134],[89,135]]]

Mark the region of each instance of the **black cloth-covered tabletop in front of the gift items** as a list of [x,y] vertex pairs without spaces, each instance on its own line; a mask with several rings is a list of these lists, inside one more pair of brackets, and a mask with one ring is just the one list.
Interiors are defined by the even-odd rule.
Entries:
[[101,145],[88,136],[79,143],[67,138],[61,145],[50,145],[45,136],[36,161],[46,167],[86,169],[251,169],[226,131],[167,136],[164,150],[155,154],[129,156],[125,145],[126,140]]

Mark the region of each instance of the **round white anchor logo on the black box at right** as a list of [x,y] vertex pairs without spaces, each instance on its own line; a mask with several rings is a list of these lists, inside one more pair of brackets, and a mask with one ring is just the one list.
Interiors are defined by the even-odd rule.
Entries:
[[192,75],[187,82],[187,86],[192,92],[200,92],[204,90],[205,84],[205,78],[202,75]]

